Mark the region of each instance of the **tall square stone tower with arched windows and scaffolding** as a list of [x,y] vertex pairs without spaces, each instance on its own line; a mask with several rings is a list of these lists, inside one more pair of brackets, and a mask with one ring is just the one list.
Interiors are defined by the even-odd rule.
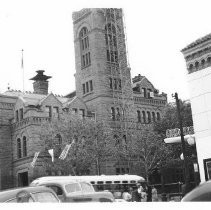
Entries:
[[[131,116],[132,86],[122,9],[73,13],[76,95],[98,120]],[[127,105],[125,105],[127,103]]]

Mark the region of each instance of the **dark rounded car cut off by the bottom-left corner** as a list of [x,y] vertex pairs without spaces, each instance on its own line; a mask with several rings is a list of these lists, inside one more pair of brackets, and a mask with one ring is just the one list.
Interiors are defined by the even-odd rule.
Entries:
[[56,193],[47,187],[21,187],[0,191],[0,203],[59,203]]

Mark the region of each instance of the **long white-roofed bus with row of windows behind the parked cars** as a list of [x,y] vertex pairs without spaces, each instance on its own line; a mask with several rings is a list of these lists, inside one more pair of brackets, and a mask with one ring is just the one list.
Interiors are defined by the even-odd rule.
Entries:
[[[138,175],[93,175],[93,176],[47,176],[40,177],[37,181],[44,180],[80,180],[92,184],[95,191],[110,191],[116,198],[121,198],[123,191],[128,191],[130,187],[135,187],[137,183],[145,184],[145,179]],[[34,183],[36,180],[33,181]],[[118,195],[119,193],[119,195]]]

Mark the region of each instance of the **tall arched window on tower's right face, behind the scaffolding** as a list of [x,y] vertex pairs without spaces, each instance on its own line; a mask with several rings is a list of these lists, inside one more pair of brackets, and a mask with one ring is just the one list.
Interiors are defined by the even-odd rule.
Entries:
[[107,61],[118,63],[116,28],[111,23],[105,26],[105,42],[107,47]]

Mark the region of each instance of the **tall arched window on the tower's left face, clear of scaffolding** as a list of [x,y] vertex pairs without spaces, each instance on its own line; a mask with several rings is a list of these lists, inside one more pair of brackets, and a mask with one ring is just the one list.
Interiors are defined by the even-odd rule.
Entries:
[[81,67],[85,68],[91,64],[91,56],[89,50],[88,29],[83,27],[79,33],[81,47]]

